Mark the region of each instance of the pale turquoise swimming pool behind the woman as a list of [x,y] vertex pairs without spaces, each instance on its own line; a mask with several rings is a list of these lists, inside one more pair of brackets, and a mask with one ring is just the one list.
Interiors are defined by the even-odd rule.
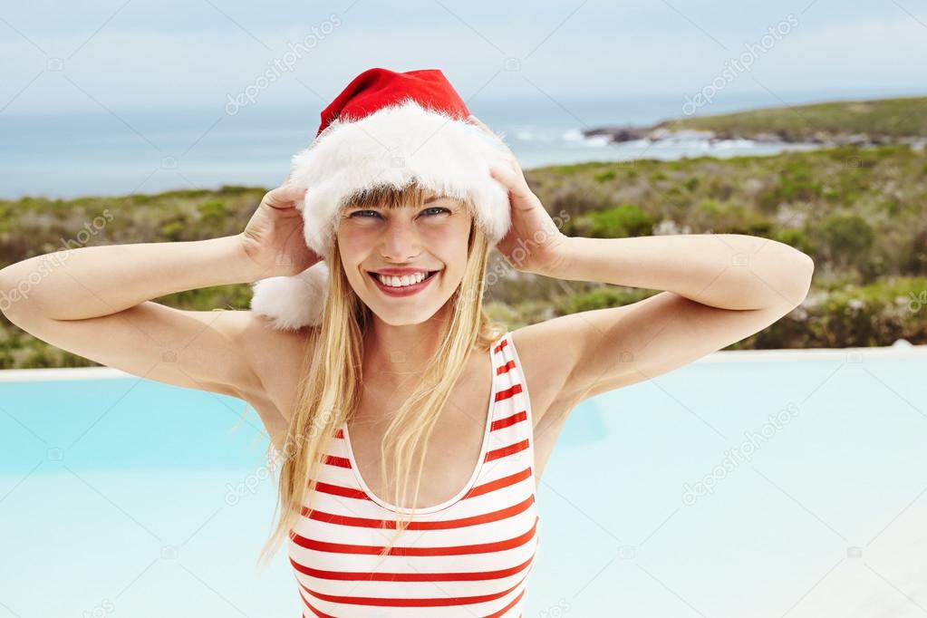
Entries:
[[[719,352],[574,410],[525,616],[922,616],[927,347]],[[244,402],[0,372],[0,617],[297,616]],[[919,607],[920,606],[920,607]]]

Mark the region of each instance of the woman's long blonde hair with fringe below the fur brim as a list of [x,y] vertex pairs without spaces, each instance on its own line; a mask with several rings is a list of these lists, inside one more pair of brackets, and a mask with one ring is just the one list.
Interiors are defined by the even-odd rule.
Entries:
[[[352,195],[352,208],[422,208],[431,194],[413,183],[404,189],[375,187]],[[467,205],[468,207],[470,205]],[[471,210],[472,212],[472,210]],[[483,286],[489,258],[486,236],[471,225],[464,277],[451,298],[450,320],[441,324],[442,336],[434,362],[428,363],[413,394],[400,406],[383,435],[380,447],[381,478],[395,481],[392,503],[402,508],[408,480],[413,467],[413,455],[421,448],[417,460],[415,491],[418,501],[422,471],[425,467],[425,446],[444,407],[451,387],[464,371],[471,351],[487,351],[507,330],[502,322],[492,321],[483,309]],[[271,447],[280,464],[279,492],[274,517],[277,523],[264,547],[259,561],[264,565],[273,558],[285,536],[292,538],[292,528],[300,517],[311,517],[316,479],[324,461],[329,441],[342,423],[347,423],[361,399],[363,334],[371,326],[372,312],[350,286],[338,255],[337,238],[331,256],[327,257],[330,280],[322,323],[307,327],[313,341],[306,347],[302,359],[298,397],[290,415],[283,451]],[[393,454],[392,473],[387,473],[387,454]],[[275,467],[275,465],[274,465]],[[400,482],[401,480],[401,482]],[[381,552],[389,553],[401,532],[414,516],[408,518],[396,512],[396,533]]]

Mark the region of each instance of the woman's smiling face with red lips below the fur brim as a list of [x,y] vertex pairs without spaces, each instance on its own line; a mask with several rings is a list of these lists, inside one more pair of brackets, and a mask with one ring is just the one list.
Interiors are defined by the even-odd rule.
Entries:
[[[464,277],[472,220],[466,205],[450,197],[421,208],[345,208],[337,246],[351,287],[388,324],[425,322]],[[414,274],[376,278],[375,271],[389,269]]]

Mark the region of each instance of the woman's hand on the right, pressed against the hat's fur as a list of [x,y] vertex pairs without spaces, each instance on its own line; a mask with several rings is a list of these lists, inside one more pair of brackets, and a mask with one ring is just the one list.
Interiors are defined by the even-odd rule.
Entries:
[[[469,120],[502,142],[498,135],[476,116]],[[502,142],[503,145],[504,142]],[[490,175],[502,183],[509,192],[512,225],[496,248],[517,271],[550,274],[561,263],[568,236],[557,229],[537,195],[531,192],[525,172],[518,160],[505,145],[509,155],[507,165],[489,164]]]

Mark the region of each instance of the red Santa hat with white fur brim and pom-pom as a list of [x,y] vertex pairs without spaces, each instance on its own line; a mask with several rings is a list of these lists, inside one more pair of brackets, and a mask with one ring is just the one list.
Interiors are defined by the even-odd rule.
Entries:
[[[306,244],[327,259],[337,214],[357,192],[418,183],[473,207],[474,223],[495,246],[511,224],[508,191],[489,163],[511,155],[502,138],[468,121],[470,111],[438,69],[368,69],[322,111],[312,144],[294,155],[289,183],[308,189]],[[325,259],[293,276],[253,285],[250,309],[278,329],[321,322],[328,294]]]

